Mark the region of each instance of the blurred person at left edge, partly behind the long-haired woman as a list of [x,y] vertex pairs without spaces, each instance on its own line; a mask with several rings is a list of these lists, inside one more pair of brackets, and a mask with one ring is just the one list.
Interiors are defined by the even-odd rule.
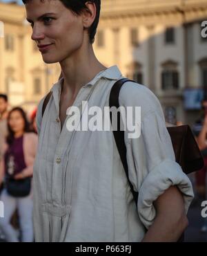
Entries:
[[6,94],[0,94],[0,160],[2,157],[3,141],[7,135],[8,118],[8,97]]

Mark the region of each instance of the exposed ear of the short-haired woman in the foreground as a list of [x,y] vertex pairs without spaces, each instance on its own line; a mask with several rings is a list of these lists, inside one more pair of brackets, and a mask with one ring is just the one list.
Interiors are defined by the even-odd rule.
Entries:
[[83,27],[90,28],[93,21],[95,21],[95,17],[97,15],[97,8],[95,3],[90,1],[86,2],[86,9],[82,11],[82,19],[83,19]]

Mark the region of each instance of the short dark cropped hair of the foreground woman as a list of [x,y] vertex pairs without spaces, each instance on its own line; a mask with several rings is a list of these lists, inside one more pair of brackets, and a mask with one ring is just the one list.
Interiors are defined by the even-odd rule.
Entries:
[[[32,0],[22,0],[24,4],[28,3]],[[43,0],[41,0],[43,1]],[[93,21],[92,25],[88,29],[90,44],[92,44],[95,41],[95,35],[97,33],[97,26],[99,24],[99,17],[100,17],[100,11],[101,11],[101,0],[59,0],[63,3],[66,8],[72,10],[72,12],[75,15],[80,15],[83,10],[88,10],[86,3],[91,2],[95,3],[95,6],[97,8],[97,14],[95,17],[95,20]]]

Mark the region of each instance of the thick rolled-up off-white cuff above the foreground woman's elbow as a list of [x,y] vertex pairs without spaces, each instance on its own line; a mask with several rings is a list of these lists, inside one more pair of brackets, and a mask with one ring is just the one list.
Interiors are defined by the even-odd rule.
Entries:
[[182,192],[187,213],[194,197],[193,186],[178,163],[167,159],[157,165],[144,179],[139,190],[137,206],[141,222],[147,229],[156,217],[153,201],[172,185],[177,185],[177,188]]

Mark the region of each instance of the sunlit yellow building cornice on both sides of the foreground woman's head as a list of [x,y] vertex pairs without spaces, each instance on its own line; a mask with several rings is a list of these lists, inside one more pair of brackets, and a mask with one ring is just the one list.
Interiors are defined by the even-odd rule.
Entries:
[[[26,12],[24,6],[0,3],[0,20],[22,26]],[[102,0],[100,24],[112,21],[132,21],[153,24],[164,19],[191,22],[207,17],[206,0]],[[167,20],[168,22],[168,20]],[[113,24],[111,24],[113,26]]]

